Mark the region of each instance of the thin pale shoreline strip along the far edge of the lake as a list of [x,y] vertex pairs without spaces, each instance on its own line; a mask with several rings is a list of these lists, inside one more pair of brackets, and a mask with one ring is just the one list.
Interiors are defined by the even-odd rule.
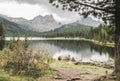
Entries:
[[[14,37],[15,40],[18,39],[18,37]],[[88,41],[88,42],[92,42],[94,44],[100,45],[100,46],[107,46],[107,47],[114,47],[114,43],[102,43],[100,41],[97,40],[93,40],[93,39],[86,39],[86,38],[79,38],[79,37],[74,37],[74,38],[65,38],[65,37],[53,37],[53,38],[47,38],[47,37],[27,37],[28,40],[83,40],[83,41]],[[11,39],[13,39],[13,37],[5,37],[6,41],[10,41]],[[24,37],[20,37],[20,40],[25,40]]]

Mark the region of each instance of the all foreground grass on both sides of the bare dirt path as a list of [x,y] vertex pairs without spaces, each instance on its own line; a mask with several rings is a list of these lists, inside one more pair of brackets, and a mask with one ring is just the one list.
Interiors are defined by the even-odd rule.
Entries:
[[[94,65],[73,65],[73,64],[67,64],[63,61],[54,61],[50,64],[50,67],[53,69],[61,69],[65,71],[72,71],[72,70],[78,70],[78,73],[89,73],[90,76],[102,76],[105,75],[105,72],[107,71],[108,74],[112,73],[112,70],[105,69],[102,67],[97,67]],[[43,77],[38,78],[38,81],[53,81],[53,77],[56,76],[55,72],[48,72],[48,75],[45,75]],[[4,70],[0,70],[0,81],[34,81],[30,77],[25,76],[13,76],[8,73],[6,73]]]

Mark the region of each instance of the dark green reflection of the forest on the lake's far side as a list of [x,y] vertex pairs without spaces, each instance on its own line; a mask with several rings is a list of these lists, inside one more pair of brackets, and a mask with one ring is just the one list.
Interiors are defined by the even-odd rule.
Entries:
[[44,41],[44,43],[49,43],[51,45],[58,46],[63,49],[72,50],[72,51],[83,51],[86,49],[90,49],[91,52],[96,51],[100,54],[108,53],[110,57],[114,57],[114,48],[96,45],[94,43],[88,41],[80,41],[80,40],[54,40],[54,41]]

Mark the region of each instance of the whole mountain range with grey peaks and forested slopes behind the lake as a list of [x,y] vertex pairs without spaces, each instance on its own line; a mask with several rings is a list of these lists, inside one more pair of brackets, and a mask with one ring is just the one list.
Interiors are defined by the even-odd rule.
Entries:
[[87,37],[91,26],[96,27],[101,22],[92,18],[81,18],[79,21],[60,24],[55,21],[52,15],[36,16],[31,20],[24,18],[13,18],[0,14],[0,21],[6,27],[6,36],[45,36],[45,37]]

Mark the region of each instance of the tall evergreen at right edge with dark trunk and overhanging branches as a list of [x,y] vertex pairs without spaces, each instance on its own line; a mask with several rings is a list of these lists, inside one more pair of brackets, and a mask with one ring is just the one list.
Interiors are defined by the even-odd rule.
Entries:
[[115,71],[120,73],[120,0],[49,0],[58,8],[62,5],[63,10],[75,11],[87,17],[93,15],[102,18],[105,23],[115,24]]

